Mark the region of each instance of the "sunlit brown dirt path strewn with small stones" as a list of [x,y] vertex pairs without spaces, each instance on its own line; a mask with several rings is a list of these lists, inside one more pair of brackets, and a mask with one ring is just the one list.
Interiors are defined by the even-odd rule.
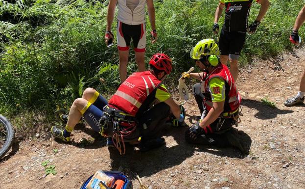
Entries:
[[[140,153],[128,146],[127,154],[119,156],[89,128],[79,128],[72,144],[47,134],[17,144],[17,153],[0,162],[0,189],[79,189],[96,170],[120,166],[137,172],[153,189],[305,189],[305,104],[283,106],[298,91],[304,62],[305,50],[300,49],[241,70],[243,116],[238,130],[251,143],[246,157],[233,148],[188,145],[187,127],[167,128],[166,146],[160,149]],[[277,108],[262,104],[265,97]],[[185,105],[191,125],[199,111],[194,99]],[[89,141],[80,141],[82,137]],[[41,163],[46,160],[56,165],[56,175],[45,175]],[[139,189],[137,181],[133,184]]]

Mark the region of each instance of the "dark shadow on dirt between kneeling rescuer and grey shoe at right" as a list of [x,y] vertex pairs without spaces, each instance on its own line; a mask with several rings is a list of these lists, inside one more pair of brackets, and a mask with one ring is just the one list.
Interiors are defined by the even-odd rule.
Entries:
[[257,109],[258,112],[254,116],[258,119],[272,119],[277,117],[278,115],[293,112],[293,110],[290,109],[270,108],[260,101],[250,99],[243,99],[241,101],[241,105]]

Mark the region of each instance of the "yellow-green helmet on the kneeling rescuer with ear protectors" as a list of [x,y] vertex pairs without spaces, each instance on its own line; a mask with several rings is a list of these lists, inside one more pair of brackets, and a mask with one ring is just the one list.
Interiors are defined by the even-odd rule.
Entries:
[[219,55],[218,45],[213,39],[203,39],[199,41],[195,47],[190,50],[190,57],[196,60],[200,59],[201,55]]

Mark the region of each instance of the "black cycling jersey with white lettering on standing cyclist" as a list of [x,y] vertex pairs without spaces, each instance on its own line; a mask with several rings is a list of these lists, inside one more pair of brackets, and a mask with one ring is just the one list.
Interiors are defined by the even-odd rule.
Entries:
[[222,26],[225,31],[246,32],[252,1],[253,0],[220,0],[221,4],[225,4],[225,23]]

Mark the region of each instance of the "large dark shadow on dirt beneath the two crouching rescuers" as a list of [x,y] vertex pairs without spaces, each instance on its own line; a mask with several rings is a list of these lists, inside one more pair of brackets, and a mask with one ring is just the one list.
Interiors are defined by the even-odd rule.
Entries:
[[[166,147],[165,145],[145,153],[136,150],[134,146],[126,146],[126,154],[119,155],[116,148],[109,148],[110,158],[112,160],[112,170],[118,170],[120,167],[136,172],[141,177],[151,176],[161,170],[179,165],[187,158],[194,155],[195,152],[208,152],[217,156],[244,158],[241,152],[234,148],[217,148],[204,145],[190,145],[185,141],[185,131],[188,126],[181,128],[170,128],[163,132],[165,136],[173,136],[177,145]],[[242,132],[243,133],[243,132]],[[247,146],[251,146],[251,138],[243,134]],[[171,142],[172,144],[173,142]],[[209,148],[209,149],[207,149]]]

